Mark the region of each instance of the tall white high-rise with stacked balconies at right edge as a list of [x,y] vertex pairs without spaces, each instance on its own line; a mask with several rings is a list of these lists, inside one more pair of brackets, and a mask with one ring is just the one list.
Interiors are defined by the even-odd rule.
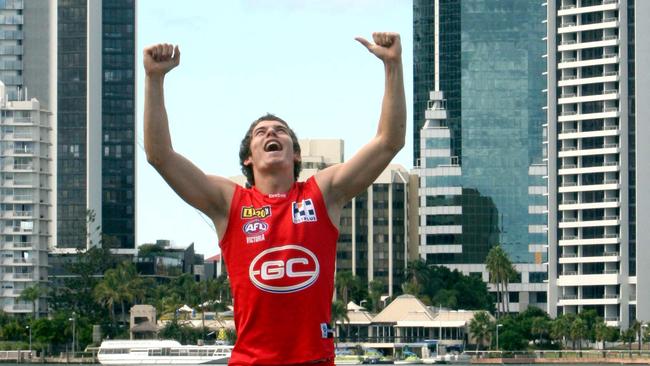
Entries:
[[548,310],[626,328],[650,320],[650,2],[545,5]]

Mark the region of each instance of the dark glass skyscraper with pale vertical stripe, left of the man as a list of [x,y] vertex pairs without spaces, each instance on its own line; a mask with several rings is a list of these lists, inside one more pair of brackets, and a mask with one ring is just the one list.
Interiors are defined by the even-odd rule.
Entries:
[[134,249],[135,1],[56,7],[56,246]]

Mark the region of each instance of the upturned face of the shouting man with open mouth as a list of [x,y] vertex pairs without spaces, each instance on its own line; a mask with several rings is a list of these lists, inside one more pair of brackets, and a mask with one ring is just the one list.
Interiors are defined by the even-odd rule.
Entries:
[[252,164],[254,169],[287,164],[293,172],[293,163],[300,160],[293,150],[289,128],[279,121],[261,121],[253,128],[250,151],[244,164]]

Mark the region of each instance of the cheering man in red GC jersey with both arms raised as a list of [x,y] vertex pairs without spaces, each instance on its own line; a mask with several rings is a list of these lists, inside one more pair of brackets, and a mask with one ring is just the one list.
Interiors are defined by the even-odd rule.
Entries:
[[214,222],[235,305],[231,364],[333,364],[328,324],[341,210],[403,147],[406,129],[399,35],[373,33],[374,43],[356,40],[384,63],[377,134],[347,162],[296,182],[297,138],[282,119],[263,116],[250,126],[240,150],[252,188],[206,175],[173,150],[163,81],[178,66],[180,51],[168,44],[144,50],[147,160]]

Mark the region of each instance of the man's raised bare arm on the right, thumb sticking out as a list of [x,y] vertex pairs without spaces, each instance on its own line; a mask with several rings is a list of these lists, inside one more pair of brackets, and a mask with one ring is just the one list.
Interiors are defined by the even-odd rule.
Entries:
[[333,220],[338,220],[341,207],[371,185],[404,146],[406,99],[400,37],[397,33],[373,33],[372,38],[374,43],[361,37],[356,40],[384,63],[385,90],[377,134],[347,162],[316,174]]

